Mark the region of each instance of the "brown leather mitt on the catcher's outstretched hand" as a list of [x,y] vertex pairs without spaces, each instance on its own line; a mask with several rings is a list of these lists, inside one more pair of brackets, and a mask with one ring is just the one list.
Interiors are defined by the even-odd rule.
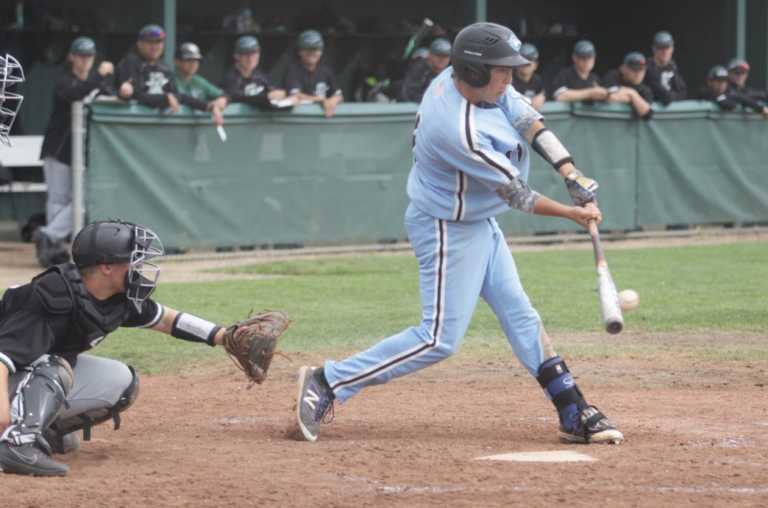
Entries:
[[238,321],[224,332],[224,349],[251,380],[250,386],[267,378],[277,339],[289,324],[284,313],[264,311]]

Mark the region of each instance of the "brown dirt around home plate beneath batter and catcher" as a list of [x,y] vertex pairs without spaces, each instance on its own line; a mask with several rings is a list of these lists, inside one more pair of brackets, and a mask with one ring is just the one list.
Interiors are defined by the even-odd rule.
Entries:
[[[764,337],[624,340],[701,346]],[[268,383],[252,390],[224,360],[179,376],[145,376],[123,428],[98,427],[90,443],[63,458],[69,477],[0,476],[4,505],[768,505],[765,361],[573,362],[590,400],[626,434],[620,446],[559,444],[554,411],[512,355],[471,353],[337,407],[317,443],[292,441],[296,370],[320,360],[279,359]],[[563,449],[598,460],[474,460]]]

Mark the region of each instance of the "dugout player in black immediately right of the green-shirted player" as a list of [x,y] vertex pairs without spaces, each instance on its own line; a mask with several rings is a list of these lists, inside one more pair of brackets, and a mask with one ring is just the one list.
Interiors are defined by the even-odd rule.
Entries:
[[259,69],[261,45],[256,37],[243,35],[235,42],[234,65],[227,71],[221,87],[232,102],[272,107],[272,101],[284,99],[285,90],[275,88]]

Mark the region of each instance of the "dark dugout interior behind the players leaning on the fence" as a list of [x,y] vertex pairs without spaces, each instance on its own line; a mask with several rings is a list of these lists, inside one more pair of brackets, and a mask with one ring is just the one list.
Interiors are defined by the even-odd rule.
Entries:
[[[449,37],[478,19],[509,25],[541,52],[545,76],[569,61],[573,43],[589,38],[597,46],[596,70],[616,67],[624,54],[648,54],[658,30],[675,37],[677,60],[689,88],[707,70],[734,56],[752,64],[753,87],[768,85],[768,2],[763,0],[58,0],[5,1],[0,7],[0,51],[17,56],[27,71],[26,107],[13,134],[42,135],[51,110],[52,78],[71,40],[89,35],[99,56],[117,62],[136,40],[141,26],[163,24],[168,32],[166,59],[176,43],[194,40],[205,60],[201,74],[218,82],[230,64],[234,40],[242,33],[259,37],[262,66],[278,74],[296,35],[317,28],[326,38],[325,58],[352,99],[361,68],[379,62],[391,78],[401,77],[403,49],[425,17]],[[247,10],[247,11],[246,11]],[[243,13],[247,12],[248,15]],[[34,104],[34,107],[29,107]]]

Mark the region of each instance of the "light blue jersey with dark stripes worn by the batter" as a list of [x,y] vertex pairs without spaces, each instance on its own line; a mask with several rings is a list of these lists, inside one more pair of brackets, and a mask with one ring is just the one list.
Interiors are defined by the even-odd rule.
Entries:
[[528,179],[530,148],[523,133],[542,116],[511,86],[494,105],[470,104],[453,69],[424,94],[414,130],[408,197],[424,213],[476,221],[510,209],[496,193],[513,178]]

